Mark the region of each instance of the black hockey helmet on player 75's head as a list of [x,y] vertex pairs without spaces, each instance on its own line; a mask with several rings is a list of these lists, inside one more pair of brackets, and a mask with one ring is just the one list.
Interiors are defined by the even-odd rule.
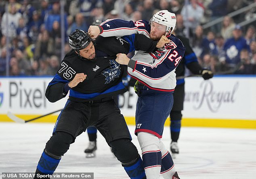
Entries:
[[79,50],[86,48],[92,41],[90,35],[80,29],[76,29],[69,35],[69,45],[71,48],[79,52]]

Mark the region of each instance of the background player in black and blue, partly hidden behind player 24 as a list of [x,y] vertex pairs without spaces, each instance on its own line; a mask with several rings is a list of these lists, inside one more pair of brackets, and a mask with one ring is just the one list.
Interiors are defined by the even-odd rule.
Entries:
[[[184,35],[176,35],[183,43],[186,48],[185,54],[180,61],[180,64],[176,68],[176,77],[184,76],[185,75],[185,67],[187,67],[191,73],[195,75],[202,75],[204,79],[210,79],[213,77],[212,71],[203,69],[198,61],[195,53],[193,52],[191,46],[189,45],[189,39],[184,37]],[[178,137],[180,134],[180,126],[181,126],[181,119],[182,114],[181,111],[183,110],[183,102],[185,97],[185,80],[177,79],[175,91],[173,93],[174,103],[172,106],[172,110],[170,112],[170,132],[171,132],[171,147],[170,150],[172,152],[172,156],[175,157],[176,154],[179,153],[178,150]]]

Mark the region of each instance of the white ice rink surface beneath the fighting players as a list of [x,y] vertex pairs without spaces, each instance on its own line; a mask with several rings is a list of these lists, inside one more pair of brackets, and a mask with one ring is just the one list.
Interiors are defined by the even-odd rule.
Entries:
[[[0,173],[34,172],[53,123],[0,123]],[[141,150],[134,126],[132,142]],[[170,129],[163,142],[170,150]],[[56,172],[93,172],[94,179],[128,179],[100,133],[96,158],[85,158],[87,133],[77,137]],[[256,179],[256,130],[182,127],[174,159],[181,179]],[[2,176],[1,176],[2,177]]]

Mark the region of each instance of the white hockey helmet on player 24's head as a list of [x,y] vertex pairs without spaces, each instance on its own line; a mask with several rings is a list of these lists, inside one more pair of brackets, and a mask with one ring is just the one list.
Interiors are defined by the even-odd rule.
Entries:
[[166,32],[173,31],[176,26],[176,15],[169,12],[168,10],[160,10],[153,15],[150,19],[149,24],[156,22],[166,26]]

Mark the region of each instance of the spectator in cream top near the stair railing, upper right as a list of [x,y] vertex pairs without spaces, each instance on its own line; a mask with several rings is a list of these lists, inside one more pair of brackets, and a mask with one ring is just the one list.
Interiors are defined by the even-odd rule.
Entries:
[[220,30],[220,33],[222,37],[224,37],[225,40],[232,37],[232,31],[235,28],[235,23],[233,22],[233,19],[229,16],[225,16],[222,21],[222,27]]

